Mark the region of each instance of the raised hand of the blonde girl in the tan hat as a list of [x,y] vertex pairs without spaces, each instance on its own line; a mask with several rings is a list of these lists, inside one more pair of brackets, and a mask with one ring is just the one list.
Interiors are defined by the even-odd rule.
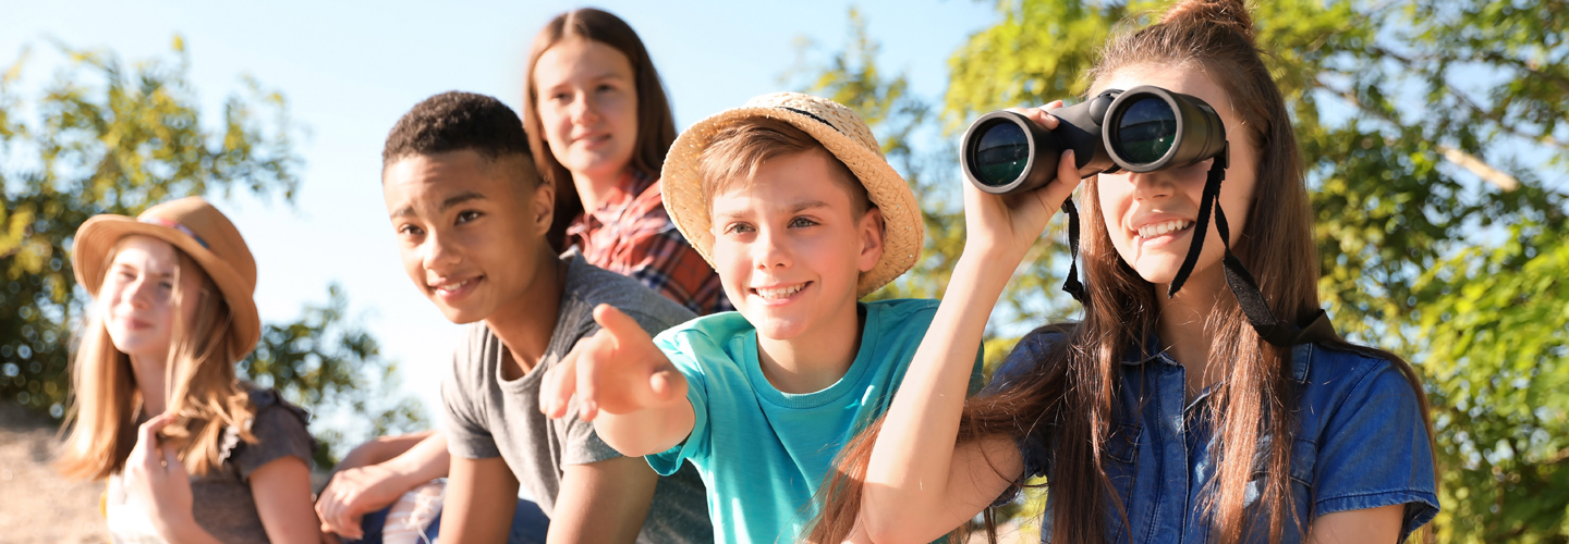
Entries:
[[191,511],[191,481],[179,450],[160,444],[158,431],[174,422],[174,414],[158,414],[137,430],[137,445],[126,459],[126,492],[147,508],[147,519],[166,541],[196,527]]

